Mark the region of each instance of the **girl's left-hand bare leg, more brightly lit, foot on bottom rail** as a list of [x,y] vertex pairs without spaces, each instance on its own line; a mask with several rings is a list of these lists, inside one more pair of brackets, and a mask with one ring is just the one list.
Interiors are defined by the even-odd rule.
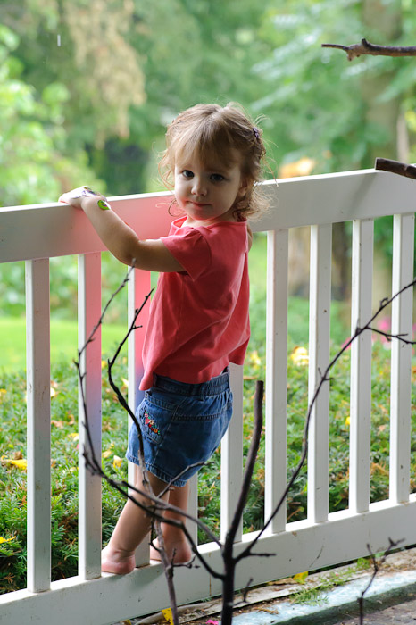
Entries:
[[[156,478],[152,473],[146,471],[146,477],[150,482],[154,495],[158,495],[164,487],[165,482],[162,479]],[[139,467],[135,467],[135,481],[134,486],[140,490],[143,490],[142,472]],[[150,505],[150,500],[138,493],[133,493],[134,498],[144,504]],[[166,500],[169,494],[163,496]],[[141,543],[147,532],[150,529],[151,517],[138,505],[128,500],[125,504],[119,521],[112,532],[110,542],[101,555],[101,569],[108,573],[117,573],[118,575],[124,575],[133,571],[136,566],[135,551],[137,546]]]

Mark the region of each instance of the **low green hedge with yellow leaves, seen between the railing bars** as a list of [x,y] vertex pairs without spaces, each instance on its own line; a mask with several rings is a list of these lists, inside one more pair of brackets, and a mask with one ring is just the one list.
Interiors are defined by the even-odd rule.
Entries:
[[[257,347],[257,349],[254,349]],[[260,345],[253,343],[245,366],[244,451],[247,452],[253,431],[254,380],[264,379],[264,358]],[[335,346],[333,351],[335,351]],[[287,479],[298,462],[304,417],[307,410],[307,366],[296,362],[289,351],[287,414]],[[116,370],[116,379],[126,392],[126,359]],[[382,344],[373,347],[373,386],[371,419],[371,501],[388,496],[389,438],[389,354]],[[105,378],[105,376],[104,376]],[[349,355],[346,353],[333,371],[330,389],[329,508],[330,512],[348,505],[349,444]],[[52,543],[53,579],[76,574],[78,544],[78,381],[73,364],[57,363],[52,372]],[[17,373],[0,376],[0,590],[8,592],[25,586],[26,575],[26,476],[10,460],[26,458],[25,378]],[[412,398],[415,403],[416,397]],[[119,479],[127,477],[127,461],[114,465],[114,457],[124,457],[127,440],[127,418],[121,411],[108,382],[103,382],[103,462],[105,470]],[[413,413],[412,420],[416,420]],[[413,424],[415,425],[415,423]],[[413,433],[416,428],[412,428]],[[416,435],[412,435],[412,450]],[[412,474],[416,464],[412,463]],[[416,483],[412,480],[412,490]],[[220,451],[199,473],[199,514],[218,534],[220,529]],[[262,525],[264,494],[264,437],[254,468],[253,485],[244,515],[244,529]],[[298,521],[306,515],[306,467],[295,480],[287,497],[287,517]],[[103,483],[103,540],[111,535],[115,520],[124,504],[123,497]],[[206,541],[200,534],[199,540]],[[368,562],[361,562],[360,566]],[[320,589],[322,591],[322,589]],[[316,597],[315,597],[316,598]],[[308,599],[311,600],[311,597]]]

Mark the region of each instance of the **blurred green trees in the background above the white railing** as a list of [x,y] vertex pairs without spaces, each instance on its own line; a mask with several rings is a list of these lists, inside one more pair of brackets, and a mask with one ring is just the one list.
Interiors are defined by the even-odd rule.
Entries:
[[[269,144],[268,177],[416,161],[416,63],[348,63],[322,43],[414,45],[412,0],[0,0],[0,205],[162,188],[166,123],[237,101]],[[391,223],[376,223],[388,261]],[[293,263],[304,266],[299,235]],[[348,296],[348,226],[334,228],[335,296]],[[294,264],[294,275],[296,267]],[[293,286],[303,293],[307,282]]]

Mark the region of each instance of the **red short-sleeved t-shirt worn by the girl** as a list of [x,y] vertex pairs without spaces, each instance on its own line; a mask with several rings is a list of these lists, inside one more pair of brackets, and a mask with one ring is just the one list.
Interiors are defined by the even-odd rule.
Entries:
[[185,271],[161,273],[143,347],[145,373],[196,384],[243,364],[250,337],[248,237],[245,221],[192,228],[171,224],[163,244]]

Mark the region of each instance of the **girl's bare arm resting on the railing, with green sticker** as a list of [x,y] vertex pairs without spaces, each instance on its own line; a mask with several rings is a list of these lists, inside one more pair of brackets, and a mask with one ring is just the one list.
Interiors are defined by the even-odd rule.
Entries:
[[[104,196],[90,192],[88,188],[85,194],[85,188],[64,193],[59,201],[81,208],[104,246],[119,261],[146,271],[184,271],[160,239],[140,241],[136,232],[111,210]],[[77,192],[82,195],[76,196]]]

